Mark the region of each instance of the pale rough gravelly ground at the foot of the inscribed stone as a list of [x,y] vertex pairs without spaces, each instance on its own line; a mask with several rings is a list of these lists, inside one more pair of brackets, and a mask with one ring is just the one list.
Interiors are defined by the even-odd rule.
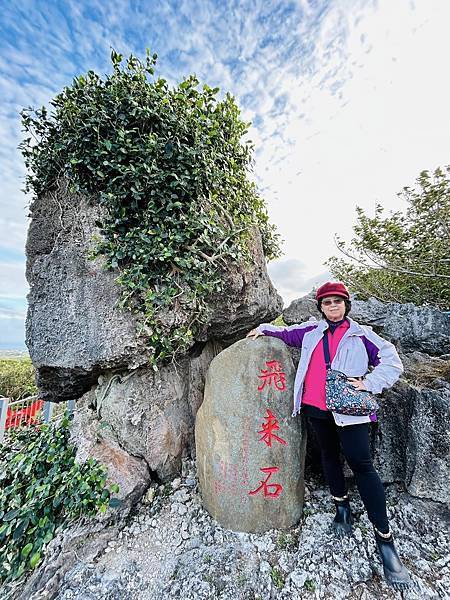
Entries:
[[394,591],[383,580],[371,525],[356,490],[354,533],[340,540],[333,505],[308,480],[304,514],[288,532],[233,533],[201,506],[194,464],[184,476],[149,489],[136,514],[95,562],[80,560],[58,600],[202,598],[268,600],[450,598],[450,533],[445,508],[386,489],[391,526],[414,586]]

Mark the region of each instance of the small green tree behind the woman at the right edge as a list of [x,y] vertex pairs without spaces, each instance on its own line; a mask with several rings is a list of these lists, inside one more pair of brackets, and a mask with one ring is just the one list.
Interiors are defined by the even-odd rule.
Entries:
[[382,301],[450,305],[450,166],[422,171],[415,188],[405,187],[406,212],[385,216],[377,205],[368,217],[357,207],[355,237],[336,237],[340,252],[327,265],[358,297]]

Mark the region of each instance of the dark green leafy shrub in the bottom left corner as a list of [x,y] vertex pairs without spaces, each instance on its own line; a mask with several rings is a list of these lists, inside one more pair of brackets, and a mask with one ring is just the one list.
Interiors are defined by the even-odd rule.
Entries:
[[13,431],[0,445],[0,583],[33,569],[46,544],[70,521],[117,505],[106,469],[75,462],[69,420]]

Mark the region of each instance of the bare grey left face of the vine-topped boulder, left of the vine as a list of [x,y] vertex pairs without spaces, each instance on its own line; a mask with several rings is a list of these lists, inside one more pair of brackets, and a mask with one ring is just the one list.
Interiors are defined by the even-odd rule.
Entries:
[[102,371],[145,365],[149,354],[137,339],[135,317],[117,308],[117,273],[106,271],[101,258],[88,258],[100,208],[61,183],[34,202],[31,214],[26,343],[40,397],[75,399]]

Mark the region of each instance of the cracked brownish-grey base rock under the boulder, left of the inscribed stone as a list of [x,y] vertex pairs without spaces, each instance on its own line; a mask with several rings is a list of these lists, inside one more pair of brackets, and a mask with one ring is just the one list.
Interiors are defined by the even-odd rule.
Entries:
[[[100,452],[99,446],[92,444],[94,437],[108,448],[118,446],[130,460],[145,463],[147,483],[152,474],[162,480],[175,476],[182,457],[194,447],[195,415],[202,402],[206,371],[221,349],[208,342],[200,356],[186,357],[176,366],[100,376],[98,385],[77,402],[75,444],[87,447],[93,456]],[[79,424],[78,419],[82,420]],[[114,471],[114,453],[104,452],[104,459]],[[132,493],[137,473],[125,471],[120,477],[124,489]]]

